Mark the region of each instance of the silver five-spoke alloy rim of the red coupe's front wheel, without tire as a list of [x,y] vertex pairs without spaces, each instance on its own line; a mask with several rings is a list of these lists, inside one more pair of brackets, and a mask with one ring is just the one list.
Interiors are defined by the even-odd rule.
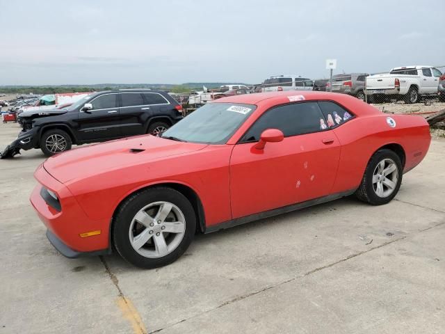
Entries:
[[164,257],[181,243],[186,232],[186,218],[170,202],[153,202],[133,217],[129,239],[134,250],[144,257]]

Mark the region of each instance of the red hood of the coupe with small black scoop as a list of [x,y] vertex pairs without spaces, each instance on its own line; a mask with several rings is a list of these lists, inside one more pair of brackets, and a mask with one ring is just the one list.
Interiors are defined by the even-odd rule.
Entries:
[[177,154],[202,150],[207,144],[184,143],[151,135],[89,145],[56,154],[44,162],[49,174],[59,182],[91,177],[113,170],[152,162]]

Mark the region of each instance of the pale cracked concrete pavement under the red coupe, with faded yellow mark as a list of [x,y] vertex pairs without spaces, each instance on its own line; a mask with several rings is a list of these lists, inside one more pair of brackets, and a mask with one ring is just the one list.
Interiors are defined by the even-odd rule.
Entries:
[[[0,148],[18,125],[0,125]],[[442,333],[445,141],[385,206],[346,198],[207,235],[168,267],[68,260],[29,205],[40,150],[0,161],[1,333]]]

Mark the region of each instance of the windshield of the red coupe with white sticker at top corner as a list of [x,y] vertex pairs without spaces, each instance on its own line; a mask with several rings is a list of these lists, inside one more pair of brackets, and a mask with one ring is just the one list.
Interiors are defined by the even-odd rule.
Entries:
[[193,111],[162,134],[192,143],[223,144],[257,109],[252,104],[209,103]]

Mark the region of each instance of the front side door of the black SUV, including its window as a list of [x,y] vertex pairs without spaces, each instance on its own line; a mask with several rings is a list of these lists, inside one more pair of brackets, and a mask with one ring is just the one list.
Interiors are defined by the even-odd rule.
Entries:
[[82,142],[120,137],[118,94],[106,93],[90,102],[92,109],[79,110],[78,137]]

